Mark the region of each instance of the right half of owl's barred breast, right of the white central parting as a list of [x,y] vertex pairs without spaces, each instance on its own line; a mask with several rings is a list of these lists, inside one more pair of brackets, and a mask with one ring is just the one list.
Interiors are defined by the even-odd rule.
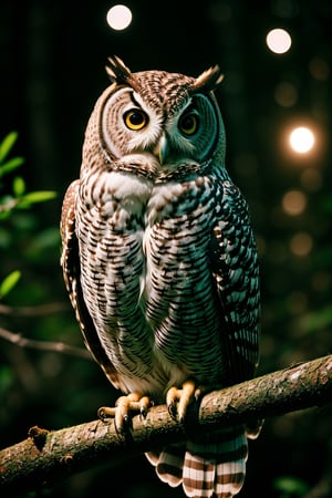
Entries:
[[216,197],[209,178],[156,186],[144,234],[146,320],[170,371],[207,382],[222,373],[220,310],[208,247]]

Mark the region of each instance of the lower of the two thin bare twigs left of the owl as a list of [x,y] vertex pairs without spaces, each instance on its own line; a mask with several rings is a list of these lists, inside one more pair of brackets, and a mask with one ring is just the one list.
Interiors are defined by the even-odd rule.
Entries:
[[83,357],[84,360],[92,360],[91,354],[83,347],[75,347],[63,342],[54,341],[35,341],[27,339],[20,333],[10,332],[9,330],[0,328],[0,338],[20,347],[30,347],[32,350],[51,351],[55,353],[70,354],[72,356]]

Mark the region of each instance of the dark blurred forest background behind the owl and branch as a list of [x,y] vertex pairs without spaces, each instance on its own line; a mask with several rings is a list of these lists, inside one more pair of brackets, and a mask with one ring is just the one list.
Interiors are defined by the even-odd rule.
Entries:
[[[133,71],[198,75],[215,63],[221,66],[225,82],[217,97],[227,166],[250,205],[261,262],[258,374],[331,353],[332,2],[126,4],[133,22],[116,32],[106,23],[112,2],[1,1],[0,139],[17,131],[12,154],[25,158],[19,174],[27,188],[55,190],[58,197],[0,220],[0,281],[13,270],[22,273],[0,301],[0,326],[83,346],[59,264],[59,219],[64,191],[79,175],[87,118],[108,84],[107,56],[117,54]],[[288,53],[268,50],[272,28],[291,34]],[[287,144],[298,124],[315,133],[307,155]],[[3,179],[2,194],[17,175]],[[94,419],[96,409],[117,396],[92,361],[1,338],[0,346],[1,447],[25,438],[33,425],[56,429]],[[269,418],[250,444],[240,496],[307,496],[328,465],[331,473],[331,406]],[[183,496],[159,483],[144,457],[124,466],[105,464],[41,496],[85,498],[96,486],[110,497]],[[314,495],[323,496],[332,490]]]

